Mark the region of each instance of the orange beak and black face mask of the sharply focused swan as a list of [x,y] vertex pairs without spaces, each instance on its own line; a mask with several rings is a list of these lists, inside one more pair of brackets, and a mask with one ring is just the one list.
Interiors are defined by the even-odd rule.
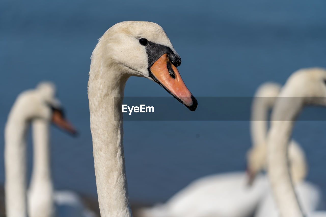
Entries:
[[144,46],[149,76],[191,111],[196,110],[197,100],[185,86],[177,69],[181,64],[180,56],[165,45],[148,41]]

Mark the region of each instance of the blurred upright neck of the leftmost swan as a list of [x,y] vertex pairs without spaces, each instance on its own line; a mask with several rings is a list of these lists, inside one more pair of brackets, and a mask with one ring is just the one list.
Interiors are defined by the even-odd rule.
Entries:
[[28,123],[11,112],[5,128],[7,217],[26,217],[26,134]]

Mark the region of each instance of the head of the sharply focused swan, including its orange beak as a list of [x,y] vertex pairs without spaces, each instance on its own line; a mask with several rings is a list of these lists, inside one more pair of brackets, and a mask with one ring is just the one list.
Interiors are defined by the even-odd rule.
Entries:
[[115,67],[121,77],[139,76],[153,80],[191,111],[197,108],[197,100],[177,69],[181,58],[158,24],[142,21],[115,24],[99,39],[92,53],[92,64],[95,57],[100,59],[100,67]]

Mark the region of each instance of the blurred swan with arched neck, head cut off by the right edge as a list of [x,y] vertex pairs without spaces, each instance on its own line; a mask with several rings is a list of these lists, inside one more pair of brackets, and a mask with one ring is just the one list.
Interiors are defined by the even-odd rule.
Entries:
[[[296,117],[305,105],[326,106],[326,70],[308,68],[294,72],[274,106],[268,133],[268,176],[277,208],[283,217],[326,216],[304,210],[289,173],[287,149]],[[299,194],[300,196],[300,194]]]

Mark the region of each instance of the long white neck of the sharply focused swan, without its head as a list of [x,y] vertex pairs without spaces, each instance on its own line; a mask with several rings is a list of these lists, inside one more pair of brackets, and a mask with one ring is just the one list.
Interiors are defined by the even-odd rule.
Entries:
[[99,208],[102,217],[131,217],[123,150],[123,122],[118,120],[128,76],[115,73],[117,69],[101,63],[97,54],[94,50],[88,99]]

